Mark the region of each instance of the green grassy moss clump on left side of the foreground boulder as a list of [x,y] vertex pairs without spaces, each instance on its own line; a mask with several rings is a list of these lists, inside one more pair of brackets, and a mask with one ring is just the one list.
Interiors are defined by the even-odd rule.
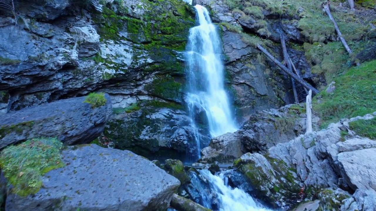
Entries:
[[13,185],[12,192],[27,196],[42,187],[41,176],[61,168],[60,150],[63,144],[56,138],[30,139],[17,146],[8,146],[0,154],[0,167]]

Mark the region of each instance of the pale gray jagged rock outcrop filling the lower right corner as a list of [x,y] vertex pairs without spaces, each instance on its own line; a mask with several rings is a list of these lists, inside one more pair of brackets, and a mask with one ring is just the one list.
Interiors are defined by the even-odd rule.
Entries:
[[[301,201],[304,197],[312,199],[312,196],[315,196],[320,200],[320,210],[372,210],[376,187],[374,185],[376,168],[372,160],[376,148],[372,140],[355,136],[355,133],[349,129],[350,121],[371,118],[374,116],[343,119],[339,123],[330,124],[326,130],[302,134],[290,142],[279,143],[268,150],[264,155],[265,158],[259,154],[245,154],[234,164],[245,176],[253,175],[251,181],[258,181],[257,175],[268,177],[265,180],[271,182],[266,182],[267,184],[253,182],[257,184],[256,190],[270,190],[272,187],[271,175],[277,175],[278,170],[281,170],[280,166],[274,167],[273,164],[283,164],[282,166],[286,167],[282,169],[293,170],[293,172],[296,170],[296,175],[292,174],[291,178],[296,180],[297,184],[304,183],[304,185],[301,186],[300,198],[298,197],[293,203]],[[348,131],[348,137],[353,138],[343,142],[341,131]],[[243,169],[244,165],[249,166]],[[270,169],[270,166],[273,168]],[[282,175],[288,174],[282,173]],[[312,190],[318,187],[326,189]],[[339,188],[356,191],[351,197],[349,193]],[[279,193],[285,196],[282,190],[289,188],[280,188]],[[280,203],[283,203],[285,199],[283,197],[281,199]]]

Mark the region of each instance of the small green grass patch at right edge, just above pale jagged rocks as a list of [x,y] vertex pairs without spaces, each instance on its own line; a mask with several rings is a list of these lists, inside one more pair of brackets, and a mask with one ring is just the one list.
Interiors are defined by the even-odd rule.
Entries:
[[376,118],[368,120],[359,119],[349,122],[349,126],[350,130],[355,131],[359,136],[376,140]]

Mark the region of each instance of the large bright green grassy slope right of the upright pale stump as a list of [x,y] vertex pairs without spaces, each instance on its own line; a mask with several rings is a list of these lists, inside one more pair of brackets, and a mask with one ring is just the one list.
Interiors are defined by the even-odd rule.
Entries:
[[343,118],[376,111],[376,60],[352,67],[334,81],[334,92],[328,94],[322,91],[321,103],[318,99],[313,101],[312,107],[321,117],[321,128]]

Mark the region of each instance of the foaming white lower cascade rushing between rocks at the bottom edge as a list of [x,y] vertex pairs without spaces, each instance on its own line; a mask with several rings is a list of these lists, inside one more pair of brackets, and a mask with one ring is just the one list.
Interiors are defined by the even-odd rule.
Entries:
[[[199,170],[215,189],[220,200],[218,211],[271,211],[257,204],[253,198],[238,188],[231,188],[224,181],[223,173],[212,175],[209,170]],[[205,194],[205,193],[203,193]]]

